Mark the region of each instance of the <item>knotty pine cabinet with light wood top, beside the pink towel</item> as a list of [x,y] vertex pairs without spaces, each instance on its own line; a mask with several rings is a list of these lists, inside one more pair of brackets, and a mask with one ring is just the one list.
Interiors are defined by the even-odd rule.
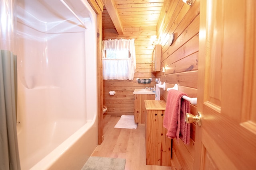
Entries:
[[171,166],[172,140],[163,127],[166,102],[145,100],[146,164]]

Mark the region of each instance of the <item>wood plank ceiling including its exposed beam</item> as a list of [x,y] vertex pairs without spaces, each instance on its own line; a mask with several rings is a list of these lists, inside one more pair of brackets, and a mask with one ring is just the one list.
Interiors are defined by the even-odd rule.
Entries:
[[102,29],[156,27],[164,0],[103,0]]

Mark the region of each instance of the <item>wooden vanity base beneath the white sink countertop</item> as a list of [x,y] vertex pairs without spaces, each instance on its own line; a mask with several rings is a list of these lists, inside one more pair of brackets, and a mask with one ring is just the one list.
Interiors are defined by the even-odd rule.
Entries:
[[146,108],[144,100],[155,100],[155,94],[134,94],[134,121],[145,124]]

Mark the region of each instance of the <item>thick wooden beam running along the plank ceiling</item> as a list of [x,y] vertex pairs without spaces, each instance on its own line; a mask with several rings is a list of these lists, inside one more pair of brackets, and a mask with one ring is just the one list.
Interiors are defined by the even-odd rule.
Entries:
[[114,0],[103,0],[103,4],[104,4],[106,10],[108,11],[108,14],[109,14],[112,22],[114,23],[114,25],[116,27],[116,31],[117,31],[118,35],[124,35],[124,27],[123,27],[122,21],[120,19],[120,16],[118,14],[118,10],[116,8],[116,4],[115,4]]

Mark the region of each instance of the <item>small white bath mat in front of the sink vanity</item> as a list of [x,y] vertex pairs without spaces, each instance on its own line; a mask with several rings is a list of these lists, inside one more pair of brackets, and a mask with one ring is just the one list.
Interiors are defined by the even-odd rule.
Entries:
[[122,115],[115,128],[136,129],[137,126],[138,124],[134,122],[134,115]]

